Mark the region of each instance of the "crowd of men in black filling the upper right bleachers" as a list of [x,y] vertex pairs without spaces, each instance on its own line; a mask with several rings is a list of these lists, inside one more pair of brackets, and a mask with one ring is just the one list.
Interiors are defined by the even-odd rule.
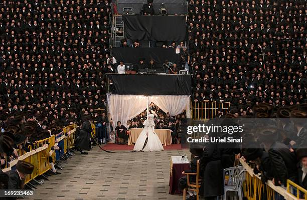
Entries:
[[230,102],[239,115],[306,102],[306,21],[304,1],[189,1],[193,100]]

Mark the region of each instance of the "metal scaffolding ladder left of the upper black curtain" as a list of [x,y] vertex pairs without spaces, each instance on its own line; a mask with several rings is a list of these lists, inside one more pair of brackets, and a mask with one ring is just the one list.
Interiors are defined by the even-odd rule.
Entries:
[[112,19],[112,42],[113,47],[119,47],[120,40],[124,38],[124,22],[121,15],[114,15]]

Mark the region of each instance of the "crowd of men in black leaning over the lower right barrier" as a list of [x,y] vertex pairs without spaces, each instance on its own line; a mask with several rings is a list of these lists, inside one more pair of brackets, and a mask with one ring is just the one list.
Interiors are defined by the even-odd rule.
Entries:
[[[199,162],[202,177],[199,194],[206,200],[218,199],[217,196],[223,195],[224,185],[231,186],[240,182],[240,176],[233,172],[229,172],[229,179],[226,176],[223,177],[223,169],[233,167],[234,163],[240,164],[239,158],[246,161],[253,168],[254,174],[261,177],[263,185],[268,180],[272,180],[275,185],[286,187],[289,179],[307,189],[306,117],[306,103],[281,107],[278,110],[269,103],[260,103],[253,107],[253,116],[250,118],[238,118],[227,113],[223,119],[208,120],[204,122],[208,126],[212,124],[221,127],[243,125],[241,133],[239,131],[230,135],[228,132],[210,131],[208,137],[241,138],[242,141],[190,144],[191,168],[185,170],[183,174],[195,173],[197,162]],[[202,135],[198,135],[197,138],[201,137]],[[201,153],[195,154],[194,150],[199,151],[199,148],[203,148]],[[193,180],[195,177],[190,176],[190,181]],[[181,178],[180,188],[184,189],[186,184],[187,178]],[[272,198],[267,195],[266,190],[261,189],[259,192],[264,192],[261,194],[263,199]],[[193,192],[189,192],[189,195],[189,199],[196,199]]]

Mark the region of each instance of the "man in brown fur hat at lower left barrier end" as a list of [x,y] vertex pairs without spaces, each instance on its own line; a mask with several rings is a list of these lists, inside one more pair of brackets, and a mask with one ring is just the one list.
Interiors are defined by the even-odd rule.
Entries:
[[19,160],[16,165],[16,170],[8,172],[8,189],[23,189],[26,176],[28,174],[31,174],[33,170],[33,164],[23,160]]

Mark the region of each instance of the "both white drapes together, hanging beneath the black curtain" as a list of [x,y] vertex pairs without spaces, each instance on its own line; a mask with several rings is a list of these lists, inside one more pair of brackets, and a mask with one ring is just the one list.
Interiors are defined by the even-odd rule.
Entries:
[[[148,96],[143,95],[107,94],[107,100],[108,111],[110,112],[114,127],[117,121],[121,121],[122,125],[127,126],[127,121],[144,111],[148,104]],[[187,110],[188,118],[191,116],[190,96],[149,96],[149,102],[154,102],[164,112],[169,112],[171,116],[178,115],[184,110]]]

